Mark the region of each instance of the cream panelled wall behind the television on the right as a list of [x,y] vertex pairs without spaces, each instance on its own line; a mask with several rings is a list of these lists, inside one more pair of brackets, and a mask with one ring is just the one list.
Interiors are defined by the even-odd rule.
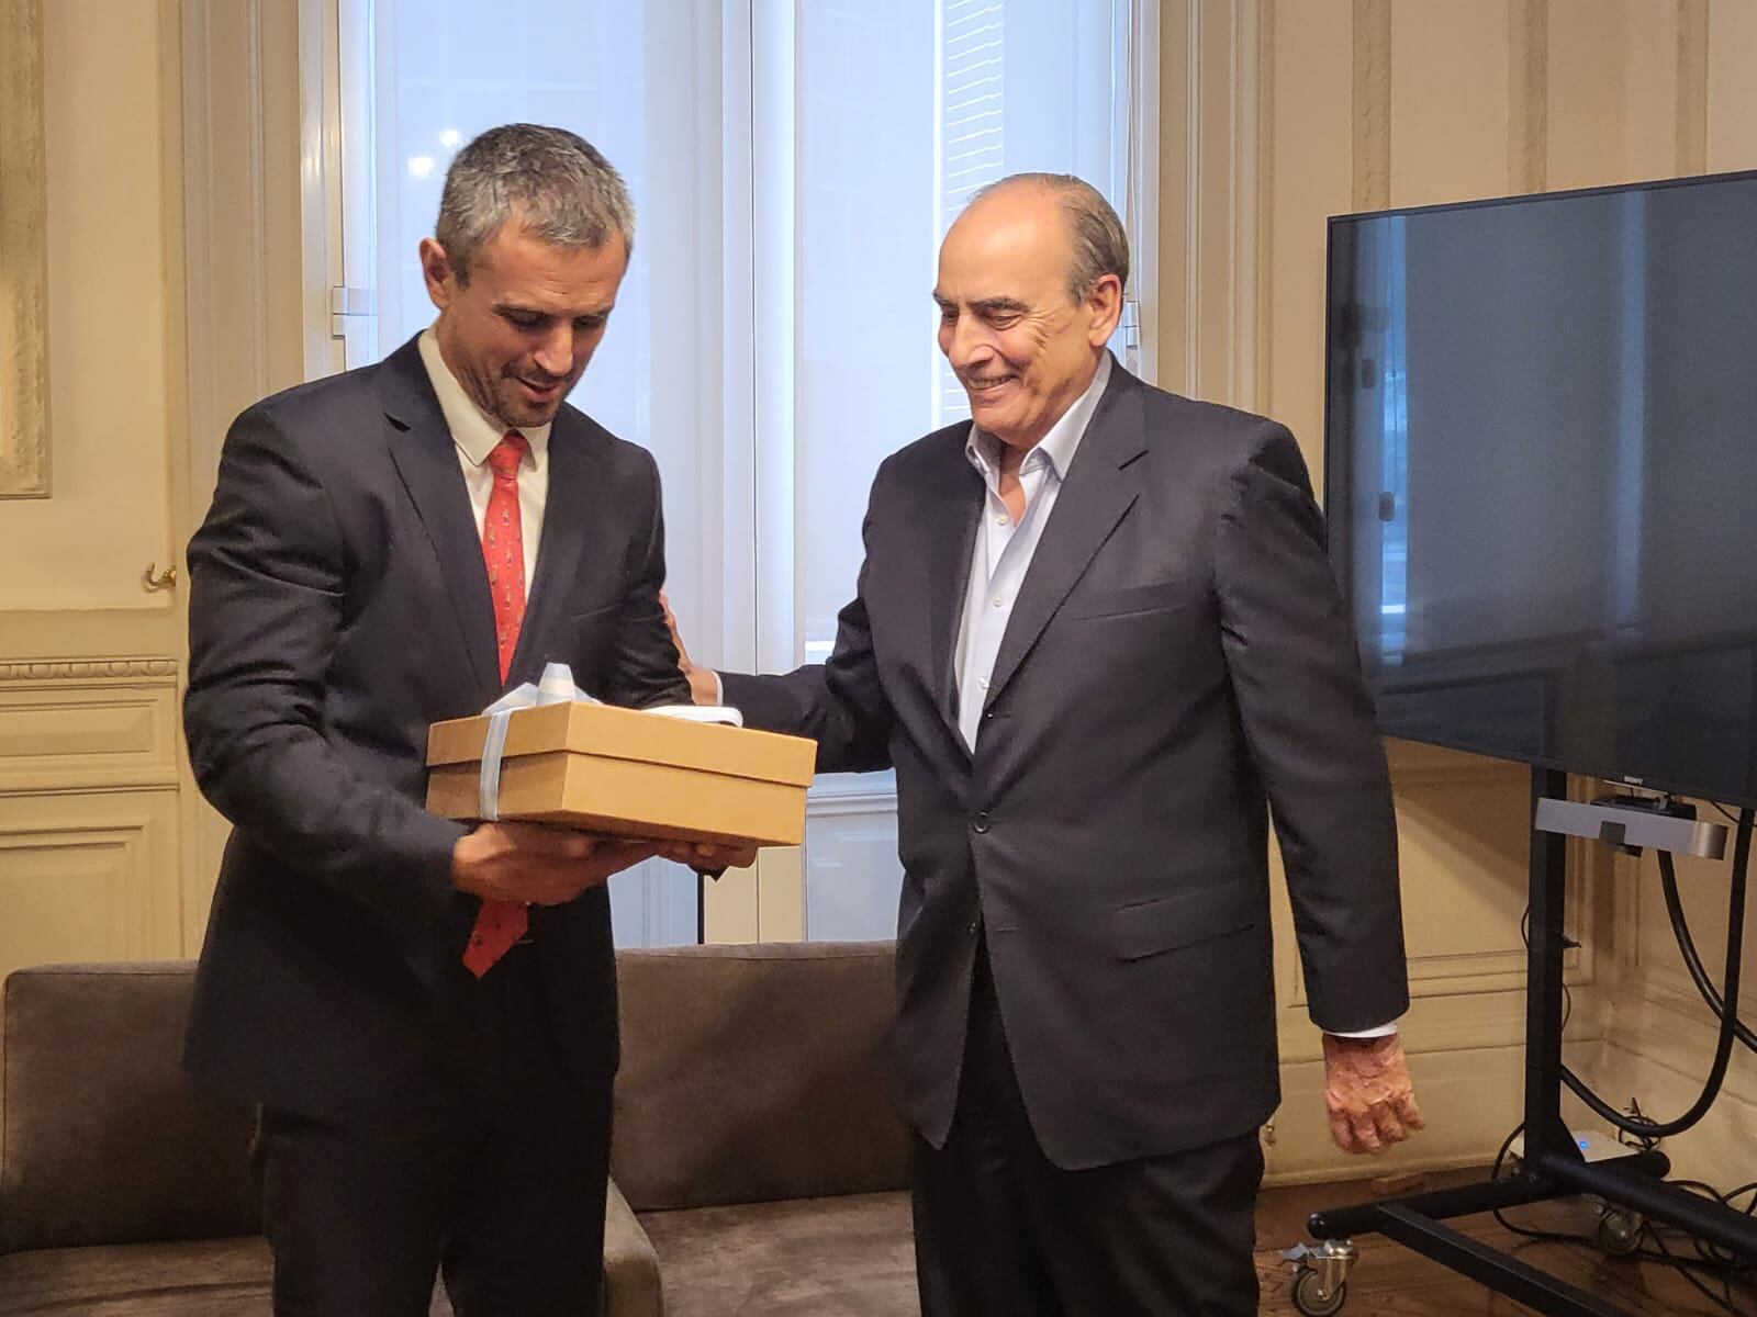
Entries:
[[[1160,26],[1160,383],[1286,421],[1320,481],[1327,216],[1757,167],[1752,0],[1161,0]],[[1529,773],[1413,745],[1392,771],[1430,1129],[1385,1159],[1328,1147],[1283,903],[1272,1178],[1478,1162],[1520,1115]],[[1678,1110],[1708,1048],[1652,883],[1571,864],[1569,1057]],[[1753,1076],[1699,1141],[1750,1138]]]

